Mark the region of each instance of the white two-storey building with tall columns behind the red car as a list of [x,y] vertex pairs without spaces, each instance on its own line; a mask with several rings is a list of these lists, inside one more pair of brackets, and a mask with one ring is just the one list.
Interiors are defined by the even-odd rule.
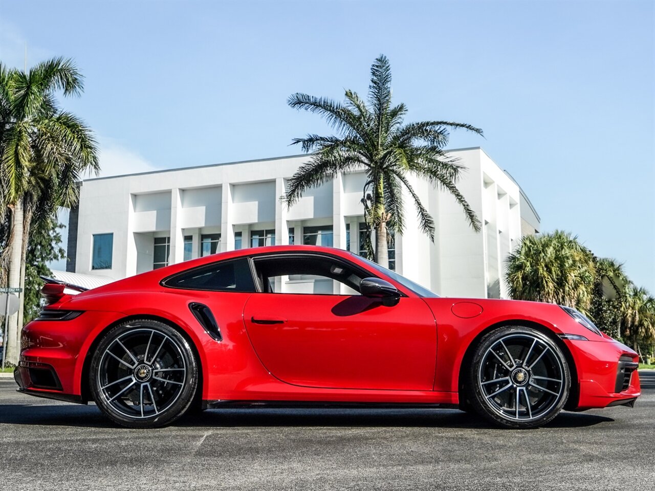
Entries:
[[[479,148],[450,151],[468,172],[458,189],[481,219],[474,232],[446,192],[410,177],[436,221],[434,243],[405,196],[405,232],[390,266],[451,297],[507,297],[504,258],[539,217],[519,185]],[[360,251],[363,172],[280,201],[307,155],[86,179],[69,219],[67,271],[119,279],[217,251],[272,244]],[[293,285],[283,286],[287,291]]]

